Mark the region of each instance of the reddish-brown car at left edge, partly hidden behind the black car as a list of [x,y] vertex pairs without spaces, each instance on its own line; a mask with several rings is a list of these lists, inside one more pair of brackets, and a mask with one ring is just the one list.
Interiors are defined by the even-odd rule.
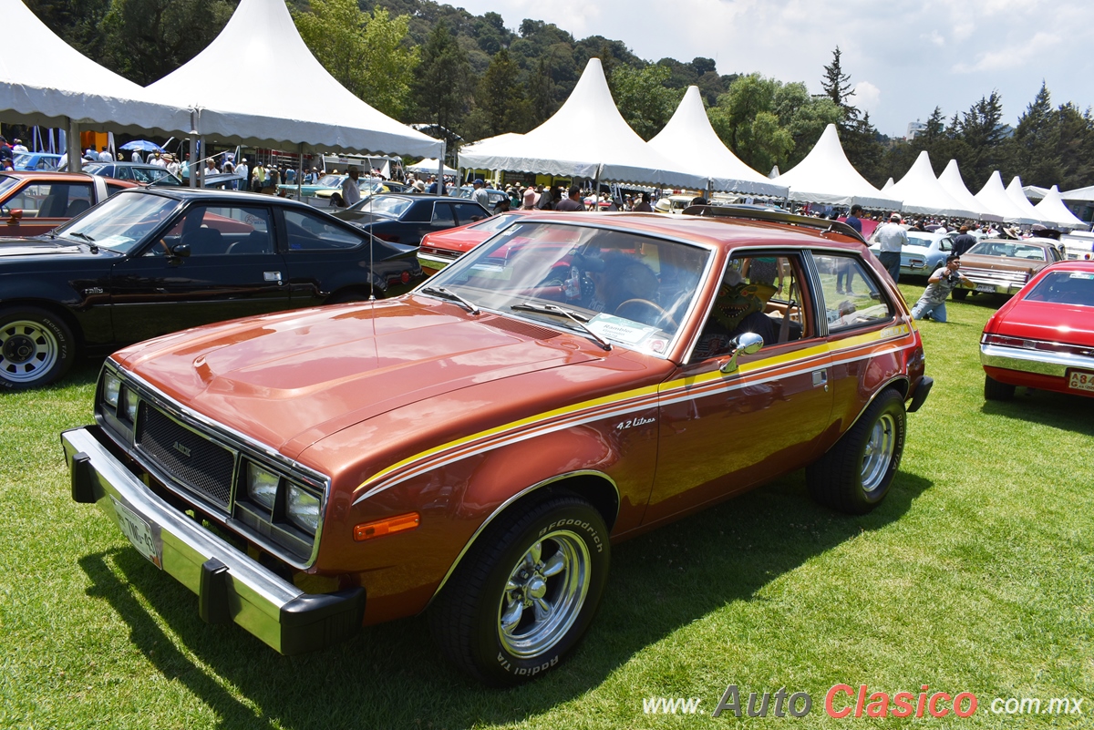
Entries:
[[136,187],[84,173],[0,174],[0,236],[40,236],[115,192]]

